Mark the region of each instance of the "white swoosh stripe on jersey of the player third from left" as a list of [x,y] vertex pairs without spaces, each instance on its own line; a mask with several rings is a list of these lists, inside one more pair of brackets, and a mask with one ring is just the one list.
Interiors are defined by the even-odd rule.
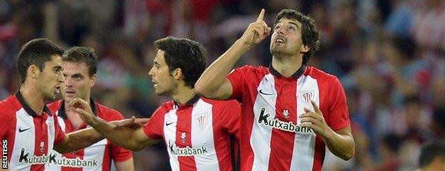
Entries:
[[[171,124],[167,126],[166,123],[171,123]],[[178,156],[173,155],[169,147],[169,142],[175,144],[177,123],[178,123],[178,115],[176,115],[176,109],[170,110],[167,114],[165,114],[163,123],[164,138],[165,138],[165,144],[167,145],[168,155],[170,155],[170,166],[172,170],[179,171]]]

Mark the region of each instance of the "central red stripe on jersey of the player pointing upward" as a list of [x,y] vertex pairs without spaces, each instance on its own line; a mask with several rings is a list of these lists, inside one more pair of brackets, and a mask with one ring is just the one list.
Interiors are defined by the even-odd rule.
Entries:
[[[295,78],[275,78],[277,100],[275,118],[285,122],[297,123],[297,80]],[[283,113],[289,111],[286,117]],[[290,170],[295,133],[272,129],[270,138],[270,160],[268,170]]]

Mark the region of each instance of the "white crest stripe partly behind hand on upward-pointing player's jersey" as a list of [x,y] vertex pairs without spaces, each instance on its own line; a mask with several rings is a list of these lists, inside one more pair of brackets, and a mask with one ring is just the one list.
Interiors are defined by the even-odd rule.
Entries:
[[[297,125],[300,125],[300,118],[298,116],[305,113],[304,108],[314,111],[312,104],[305,101],[300,92],[313,92],[315,103],[319,105],[319,90],[317,80],[311,76],[301,76],[297,80]],[[296,133],[294,149],[292,154],[292,161],[290,170],[312,170],[314,164],[315,152],[315,133]]]

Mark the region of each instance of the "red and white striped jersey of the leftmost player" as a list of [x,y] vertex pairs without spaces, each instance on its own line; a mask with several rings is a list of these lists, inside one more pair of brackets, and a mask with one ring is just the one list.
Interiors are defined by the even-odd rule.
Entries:
[[46,105],[39,116],[18,91],[0,102],[0,120],[0,140],[7,140],[9,169],[48,170],[51,149],[65,139],[65,133]]

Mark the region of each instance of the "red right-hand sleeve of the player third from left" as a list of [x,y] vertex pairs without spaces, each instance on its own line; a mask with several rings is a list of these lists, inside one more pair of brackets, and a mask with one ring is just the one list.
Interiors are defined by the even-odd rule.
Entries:
[[235,135],[238,140],[240,139],[240,116],[241,116],[241,106],[236,100],[228,100],[222,106],[222,115],[224,120],[224,128],[231,135]]

